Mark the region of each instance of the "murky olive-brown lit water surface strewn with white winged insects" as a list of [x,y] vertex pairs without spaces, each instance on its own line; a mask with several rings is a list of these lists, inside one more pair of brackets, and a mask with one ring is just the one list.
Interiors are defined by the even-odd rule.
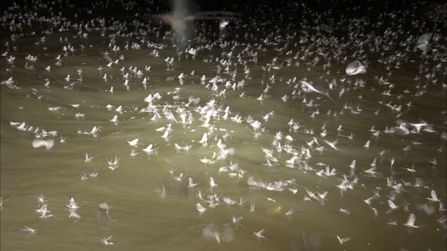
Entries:
[[[318,19],[284,34],[232,20],[240,40],[199,23],[180,56],[168,27],[98,19],[22,36],[12,20],[2,250],[446,250],[446,37],[433,20],[429,52],[380,21],[382,33],[334,36]],[[367,73],[345,75],[356,60]]]

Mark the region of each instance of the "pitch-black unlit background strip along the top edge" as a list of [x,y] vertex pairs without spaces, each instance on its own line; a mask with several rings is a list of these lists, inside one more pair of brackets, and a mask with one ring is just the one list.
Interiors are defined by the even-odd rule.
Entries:
[[[17,3],[22,10],[10,10],[10,6]],[[186,1],[189,2],[189,1]],[[26,3],[26,4],[25,4]],[[36,3],[47,3],[47,8],[35,8]],[[305,0],[305,1],[270,1],[270,0],[220,0],[220,1],[206,1],[196,0],[194,5],[189,7],[190,13],[198,13],[200,11],[208,10],[223,10],[242,13],[243,23],[247,24],[247,20],[251,22],[251,26],[258,26],[263,24],[268,26],[268,29],[277,26],[277,28],[286,29],[300,29],[303,20],[309,26],[316,22],[325,23],[326,20],[333,20],[337,22],[343,18],[363,18],[367,17],[371,23],[379,20],[379,16],[383,13],[395,13],[395,17],[387,16],[383,20],[393,24],[395,19],[401,19],[400,24],[404,24],[406,28],[415,33],[425,33],[431,25],[428,22],[439,22],[442,24],[446,22],[447,18],[440,10],[443,9],[437,3],[444,3],[444,10],[446,10],[445,1],[341,1],[341,0]],[[305,6],[305,8],[303,8]],[[133,22],[139,20],[143,23],[160,22],[154,18],[154,15],[166,13],[170,11],[170,1],[30,1],[17,0],[2,2],[2,7],[8,9],[8,13],[24,13],[23,8],[27,8],[29,13],[37,13],[38,17],[51,17],[62,13],[62,17],[72,22],[80,22],[91,20],[95,17],[105,17],[106,20],[117,20]],[[50,9],[51,8],[51,9]],[[91,14],[87,13],[91,10]],[[413,10],[412,15],[407,14],[407,10]],[[415,11],[416,10],[416,11]],[[410,13],[408,11],[408,13]],[[77,14],[77,17],[75,17]],[[437,17],[434,19],[433,17]],[[321,20],[318,20],[320,19]],[[427,20],[417,30],[412,29],[411,22],[413,20]],[[10,22],[8,19],[6,22]],[[335,28],[343,29],[334,25]],[[391,26],[393,27],[393,26]],[[267,28],[266,28],[267,29]],[[366,27],[366,29],[368,29]],[[272,28],[273,30],[273,28]],[[8,33],[8,29],[3,26],[2,33]],[[444,33],[445,33],[444,29]],[[445,34],[443,34],[445,35]],[[5,38],[8,34],[2,34]]]

